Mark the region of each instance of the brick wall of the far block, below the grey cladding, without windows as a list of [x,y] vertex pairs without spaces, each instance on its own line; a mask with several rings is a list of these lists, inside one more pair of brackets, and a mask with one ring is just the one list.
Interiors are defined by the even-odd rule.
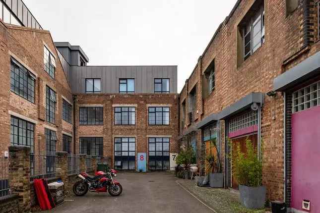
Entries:
[[[79,125],[79,106],[89,105],[103,106],[104,125],[83,126]],[[134,105],[135,125],[114,125],[113,105]],[[149,126],[148,106],[170,106],[170,125]],[[132,136],[136,138],[136,152],[148,152],[147,136],[172,136],[170,138],[170,152],[178,153],[178,95],[157,95],[157,94],[101,94],[101,95],[77,95],[75,105],[76,124],[76,152],[79,152],[79,137],[103,137],[104,156],[112,158],[114,155],[114,138]]]

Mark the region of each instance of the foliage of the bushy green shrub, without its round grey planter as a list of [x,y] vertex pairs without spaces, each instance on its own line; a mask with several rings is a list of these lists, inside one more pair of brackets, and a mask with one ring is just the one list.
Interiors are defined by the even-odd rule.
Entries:
[[257,152],[251,142],[246,140],[247,153],[240,150],[238,144],[236,158],[234,159],[234,175],[238,183],[246,186],[262,185],[262,161],[258,158]]

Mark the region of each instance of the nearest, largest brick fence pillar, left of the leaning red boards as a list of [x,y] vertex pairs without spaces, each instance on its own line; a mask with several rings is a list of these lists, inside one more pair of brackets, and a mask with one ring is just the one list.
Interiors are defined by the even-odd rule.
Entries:
[[20,212],[30,211],[30,148],[9,147],[10,187],[18,195]]

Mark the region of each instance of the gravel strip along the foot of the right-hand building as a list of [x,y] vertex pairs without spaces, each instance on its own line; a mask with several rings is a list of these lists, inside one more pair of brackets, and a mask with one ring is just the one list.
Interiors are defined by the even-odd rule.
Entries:
[[248,210],[239,203],[239,194],[228,189],[198,187],[194,181],[177,179],[177,183],[217,213],[268,213],[267,209]]

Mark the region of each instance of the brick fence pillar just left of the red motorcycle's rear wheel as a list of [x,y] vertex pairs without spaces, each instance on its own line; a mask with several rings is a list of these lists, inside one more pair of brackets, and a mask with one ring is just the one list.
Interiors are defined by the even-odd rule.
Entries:
[[56,177],[60,177],[64,181],[64,185],[68,181],[68,153],[67,152],[56,152],[58,159],[56,163]]

